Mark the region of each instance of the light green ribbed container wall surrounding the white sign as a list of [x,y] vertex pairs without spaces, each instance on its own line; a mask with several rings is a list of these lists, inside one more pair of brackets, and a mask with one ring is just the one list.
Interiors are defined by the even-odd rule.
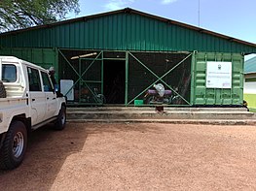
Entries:
[[[207,61],[232,62],[232,88],[206,88]],[[192,63],[193,105],[242,105],[243,56],[238,53],[196,53]]]

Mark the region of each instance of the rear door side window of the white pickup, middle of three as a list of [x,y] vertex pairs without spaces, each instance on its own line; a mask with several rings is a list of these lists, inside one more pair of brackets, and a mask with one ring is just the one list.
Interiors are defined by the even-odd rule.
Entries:
[[29,91],[42,91],[40,82],[39,71],[33,68],[27,67]]

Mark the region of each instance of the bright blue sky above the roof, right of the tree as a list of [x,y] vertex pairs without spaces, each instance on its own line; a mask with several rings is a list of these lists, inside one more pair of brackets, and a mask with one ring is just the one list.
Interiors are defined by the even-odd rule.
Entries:
[[90,16],[131,8],[256,44],[256,0],[80,0]]

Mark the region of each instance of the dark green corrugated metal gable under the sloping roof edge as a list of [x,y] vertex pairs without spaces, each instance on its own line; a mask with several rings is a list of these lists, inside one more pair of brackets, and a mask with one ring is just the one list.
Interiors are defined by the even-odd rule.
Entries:
[[132,9],[0,34],[1,48],[255,53],[256,44]]

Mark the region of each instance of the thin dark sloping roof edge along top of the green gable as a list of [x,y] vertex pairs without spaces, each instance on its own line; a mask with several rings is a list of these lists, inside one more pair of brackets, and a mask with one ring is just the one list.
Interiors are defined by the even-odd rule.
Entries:
[[171,23],[171,24],[175,24],[175,25],[178,25],[178,26],[182,26],[182,27],[185,27],[185,28],[192,29],[192,30],[196,30],[196,31],[199,31],[201,33],[206,33],[206,34],[213,35],[213,36],[216,36],[216,37],[219,37],[219,38],[222,38],[222,39],[237,42],[238,44],[243,44],[243,45],[247,45],[247,46],[251,46],[251,47],[256,48],[256,44],[253,44],[253,43],[242,41],[242,40],[230,37],[230,36],[226,36],[226,35],[223,35],[223,34],[220,34],[220,33],[209,31],[209,30],[206,30],[206,29],[203,29],[203,28],[200,28],[200,27],[197,27],[197,26],[193,26],[193,25],[190,25],[190,24],[186,24],[186,23],[183,23],[183,22],[168,19],[168,18],[165,18],[165,17],[162,17],[162,16],[150,15],[150,14],[140,12],[140,11],[137,11],[137,10],[133,10],[133,9],[130,9],[130,8],[125,8],[125,9],[122,9],[122,10],[117,10],[117,11],[113,11],[113,12],[106,12],[106,13],[96,14],[96,15],[91,15],[91,16],[82,16],[82,17],[78,17],[78,18],[72,18],[72,19],[68,19],[68,20],[58,21],[58,22],[55,22],[55,23],[52,23],[52,24],[33,26],[33,27],[25,28],[25,29],[9,31],[9,32],[5,32],[5,33],[0,33],[0,36],[11,35],[11,34],[16,34],[16,33],[20,33],[20,32],[29,31],[29,30],[40,29],[40,28],[48,28],[48,27],[52,27],[52,26],[55,26],[55,25],[75,22],[75,21],[79,21],[79,20],[87,20],[87,19],[91,19],[91,18],[99,17],[99,16],[110,16],[110,15],[117,15],[117,14],[122,14],[122,13],[136,14],[136,15],[139,15],[139,16],[151,17],[151,18],[154,18],[154,19],[165,21],[167,23]]

